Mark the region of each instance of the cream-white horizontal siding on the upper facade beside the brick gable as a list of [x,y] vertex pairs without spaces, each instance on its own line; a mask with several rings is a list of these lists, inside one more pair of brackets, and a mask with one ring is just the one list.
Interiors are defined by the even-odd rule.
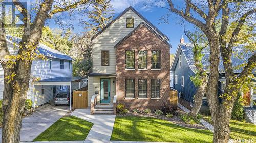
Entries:
[[[136,13],[129,10],[99,34],[93,40],[93,73],[116,73],[116,50],[114,46],[134,30],[134,28],[126,28],[126,17],[134,17],[134,28],[141,22],[145,22]],[[110,66],[101,66],[101,50],[110,51]]]

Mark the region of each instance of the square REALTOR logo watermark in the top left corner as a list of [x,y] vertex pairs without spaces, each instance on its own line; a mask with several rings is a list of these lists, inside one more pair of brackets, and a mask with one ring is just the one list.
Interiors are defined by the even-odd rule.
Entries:
[[5,34],[29,35],[29,1],[13,2],[4,0],[1,5],[1,21],[4,26],[0,27]]

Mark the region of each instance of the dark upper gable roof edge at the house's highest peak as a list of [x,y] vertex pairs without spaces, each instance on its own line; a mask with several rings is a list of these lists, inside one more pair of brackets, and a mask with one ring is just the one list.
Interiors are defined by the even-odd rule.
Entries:
[[165,34],[163,34],[156,26],[154,26],[150,21],[148,21],[144,16],[142,16],[138,11],[136,11],[132,6],[126,8],[123,12],[121,12],[115,19],[113,19],[109,24],[107,24],[102,30],[100,30],[97,34],[92,37],[92,40],[95,39],[98,35],[100,35],[106,28],[112,25],[117,19],[123,16],[127,11],[132,10],[136,13],[141,19],[143,19],[146,23],[148,23],[151,27],[154,28],[155,31],[161,34],[162,37],[166,38],[166,40],[170,40]]

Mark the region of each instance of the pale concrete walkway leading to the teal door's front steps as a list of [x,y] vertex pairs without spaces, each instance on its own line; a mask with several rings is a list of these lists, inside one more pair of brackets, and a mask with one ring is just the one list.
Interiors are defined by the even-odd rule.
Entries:
[[90,109],[75,109],[71,115],[93,123],[84,142],[109,142],[116,115],[91,115]]

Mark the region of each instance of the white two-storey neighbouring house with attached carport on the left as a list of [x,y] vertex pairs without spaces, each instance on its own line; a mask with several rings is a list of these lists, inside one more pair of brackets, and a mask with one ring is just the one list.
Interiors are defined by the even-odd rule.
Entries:
[[[6,40],[10,53],[17,54],[21,39],[7,35]],[[72,89],[79,88],[79,85],[82,86],[84,79],[72,76],[73,59],[70,56],[44,44],[39,44],[37,51],[38,54],[44,55],[46,60],[37,58],[32,62],[27,99],[33,101],[33,107],[49,102],[61,91],[71,92]],[[0,99],[3,99],[3,89],[4,71],[0,65]]]

